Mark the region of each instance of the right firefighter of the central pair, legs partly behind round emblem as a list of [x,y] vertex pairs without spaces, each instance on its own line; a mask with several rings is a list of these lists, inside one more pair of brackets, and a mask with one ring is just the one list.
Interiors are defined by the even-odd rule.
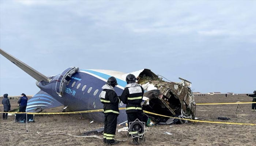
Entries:
[[[126,76],[127,85],[124,88],[122,95],[120,96],[121,101],[126,104],[126,114],[128,120],[128,126],[130,122],[135,121],[136,119],[142,121],[143,110],[142,97],[144,94],[144,89],[136,83],[136,77],[133,74],[128,74]],[[132,134],[132,131],[129,131],[129,134]],[[139,138],[140,142],[144,142],[144,137]],[[131,145],[139,145],[138,137],[132,139]]]

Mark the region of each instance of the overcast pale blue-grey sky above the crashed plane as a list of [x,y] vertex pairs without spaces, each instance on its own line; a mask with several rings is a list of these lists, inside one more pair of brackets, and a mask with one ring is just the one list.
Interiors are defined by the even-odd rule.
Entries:
[[[46,76],[150,69],[193,92],[256,90],[256,1],[0,0],[0,47]],[[0,55],[0,95],[35,79]]]

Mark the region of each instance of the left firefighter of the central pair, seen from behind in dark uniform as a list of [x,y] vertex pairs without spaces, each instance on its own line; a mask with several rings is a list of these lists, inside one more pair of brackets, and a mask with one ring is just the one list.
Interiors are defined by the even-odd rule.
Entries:
[[108,78],[105,85],[102,86],[102,92],[99,95],[100,101],[103,103],[104,119],[104,134],[103,142],[108,145],[116,145],[119,141],[114,140],[116,135],[117,116],[119,115],[118,98],[114,87],[118,85],[115,77]]

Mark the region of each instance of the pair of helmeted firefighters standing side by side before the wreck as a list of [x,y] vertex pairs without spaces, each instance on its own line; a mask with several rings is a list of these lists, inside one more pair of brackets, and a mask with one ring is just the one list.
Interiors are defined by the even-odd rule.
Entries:
[[[114,91],[114,87],[117,84],[115,77],[108,78],[108,81],[102,87],[102,92],[99,95],[100,101],[104,104],[103,113],[105,115],[104,120],[104,133],[103,142],[108,145],[116,145],[119,141],[114,140],[116,134],[117,116],[119,115],[118,103],[123,102],[126,104],[126,114],[128,123],[135,121],[136,119],[142,121],[143,110],[142,110],[142,98],[144,90],[142,86],[136,83],[136,77],[133,74],[126,76],[127,85],[124,88],[121,96],[117,96]],[[128,124],[129,126],[129,124]],[[133,134],[131,130],[129,134]],[[134,137],[131,145],[139,145],[144,142],[144,137]]]

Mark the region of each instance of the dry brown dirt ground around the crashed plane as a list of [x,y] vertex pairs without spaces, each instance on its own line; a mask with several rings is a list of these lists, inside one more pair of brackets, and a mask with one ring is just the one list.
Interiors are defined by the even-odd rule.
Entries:
[[[16,104],[17,100],[10,100]],[[245,95],[195,95],[196,103],[251,102]],[[16,108],[12,106],[11,109]],[[0,107],[3,111],[3,107]],[[45,112],[60,112],[54,108]],[[2,115],[1,115],[2,116]],[[1,146],[105,146],[102,139],[75,137],[83,132],[103,127],[102,123],[90,123],[74,115],[35,115],[35,122],[15,123],[14,116],[0,118]],[[196,117],[202,121],[256,124],[256,112],[251,104],[197,105]],[[219,120],[218,117],[230,118]],[[117,127],[117,130],[121,127]],[[26,132],[28,130],[28,132]],[[187,124],[157,125],[146,127],[146,142],[142,146],[253,146],[256,143],[256,126],[194,122]],[[170,134],[166,134],[169,132]],[[99,135],[102,138],[102,135]],[[116,132],[116,139],[123,140],[119,146],[127,146],[126,132]]]

